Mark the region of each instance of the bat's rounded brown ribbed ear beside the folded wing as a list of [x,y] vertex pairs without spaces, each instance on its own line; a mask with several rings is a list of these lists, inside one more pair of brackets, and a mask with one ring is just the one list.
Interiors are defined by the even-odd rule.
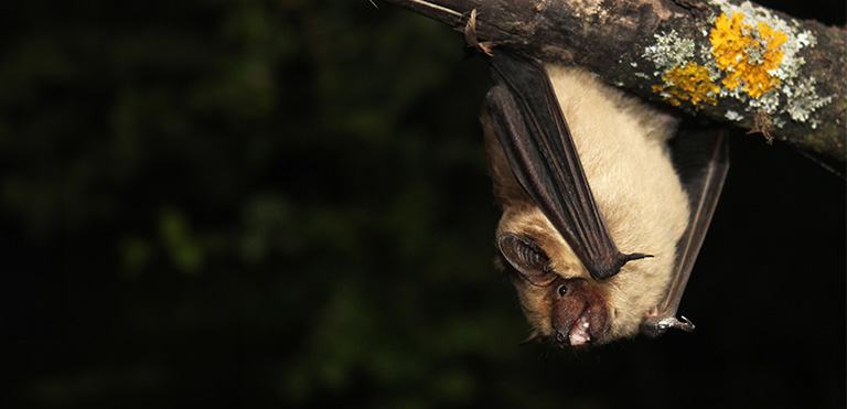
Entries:
[[506,261],[533,286],[548,286],[558,277],[535,240],[507,232],[500,235],[497,246]]

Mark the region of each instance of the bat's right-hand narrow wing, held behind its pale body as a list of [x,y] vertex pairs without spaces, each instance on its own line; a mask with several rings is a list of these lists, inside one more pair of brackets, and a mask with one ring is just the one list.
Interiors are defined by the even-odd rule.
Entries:
[[674,143],[674,165],[688,193],[691,216],[688,228],[677,244],[676,262],[667,293],[656,311],[641,324],[641,332],[653,337],[671,327],[694,330],[694,324],[686,317],[677,320],[676,312],[729,170],[729,146],[723,133],[676,138]]

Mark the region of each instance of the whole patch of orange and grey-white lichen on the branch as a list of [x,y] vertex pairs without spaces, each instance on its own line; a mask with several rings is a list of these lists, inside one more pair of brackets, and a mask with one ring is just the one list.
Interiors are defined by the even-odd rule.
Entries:
[[[775,117],[806,122],[813,120],[812,112],[832,101],[817,95],[815,78],[800,76],[805,61],[798,52],[815,46],[813,33],[749,1],[711,3],[719,12],[709,19],[707,30],[688,34],[703,37],[695,41],[676,31],[663,32],[644,47],[642,57],[655,66],[653,76],[662,78],[653,92],[673,105],[687,103],[695,109],[704,103],[716,105],[720,98],[736,99],[751,116],[774,116],[778,127],[784,120]],[[741,120],[742,114],[728,117]]]

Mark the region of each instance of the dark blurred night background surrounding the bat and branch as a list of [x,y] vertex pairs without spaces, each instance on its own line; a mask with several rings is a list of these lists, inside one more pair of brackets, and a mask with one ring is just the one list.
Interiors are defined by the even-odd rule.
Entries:
[[518,346],[459,33],[366,0],[74,3],[0,7],[14,407],[845,406],[845,181],[793,149],[732,136],[695,333]]

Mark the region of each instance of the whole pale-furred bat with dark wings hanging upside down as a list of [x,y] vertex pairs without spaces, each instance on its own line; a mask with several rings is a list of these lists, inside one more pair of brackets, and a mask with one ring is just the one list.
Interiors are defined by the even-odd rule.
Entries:
[[489,61],[496,243],[529,340],[694,330],[676,312],[728,170],[725,138],[676,138],[671,152],[674,117],[588,72],[500,50]]

